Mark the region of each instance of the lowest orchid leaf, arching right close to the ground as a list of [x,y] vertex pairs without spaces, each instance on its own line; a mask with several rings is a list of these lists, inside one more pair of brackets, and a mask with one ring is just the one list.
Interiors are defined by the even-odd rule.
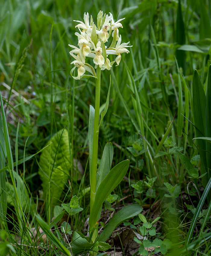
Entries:
[[109,223],[105,226],[103,232],[100,234],[99,241],[105,242],[117,226],[119,226],[124,221],[138,215],[142,210],[143,208],[140,205],[131,204],[125,206],[120,211],[115,213]]

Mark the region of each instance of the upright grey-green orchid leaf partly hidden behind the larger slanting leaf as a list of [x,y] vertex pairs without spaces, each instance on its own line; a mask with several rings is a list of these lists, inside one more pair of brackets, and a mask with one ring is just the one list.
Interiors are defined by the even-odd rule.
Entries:
[[96,191],[97,191],[101,181],[106,177],[106,175],[108,175],[108,173],[111,169],[113,155],[114,155],[114,149],[113,149],[112,143],[111,142],[106,143],[105,147],[103,149],[103,152],[102,152],[102,158],[101,158],[100,165],[98,168]]

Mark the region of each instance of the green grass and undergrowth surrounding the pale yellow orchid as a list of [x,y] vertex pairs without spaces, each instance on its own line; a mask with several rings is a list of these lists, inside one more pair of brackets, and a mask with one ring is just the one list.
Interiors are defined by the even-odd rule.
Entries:
[[[98,166],[108,142],[114,149],[111,169],[125,159],[130,166],[112,192],[118,199],[103,204],[99,227],[113,209],[117,213],[140,204],[146,223],[161,217],[156,235],[147,233],[155,246],[156,239],[163,241],[161,255],[175,250],[175,255],[210,255],[210,1],[20,0],[0,5],[0,254],[69,255],[71,243],[76,246],[82,234],[87,236],[89,105],[95,105],[95,80],[71,77],[68,44],[78,42],[73,20],[83,21],[84,12],[95,20],[101,9],[115,20],[125,17],[119,32],[122,42],[133,47],[121,55],[119,66],[101,72],[101,105],[110,75],[112,83],[99,130]],[[57,134],[63,129],[65,149]],[[146,177],[156,180],[150,185]],[[58,191],[54,201],[49,185]],[[83,211],[68,218],[61,204],[74,195]],[[60,228],[67,220],[71,235]],[[138,215],[128,223],[144,232]],[[139,253],[142,247],[140,241]]]

